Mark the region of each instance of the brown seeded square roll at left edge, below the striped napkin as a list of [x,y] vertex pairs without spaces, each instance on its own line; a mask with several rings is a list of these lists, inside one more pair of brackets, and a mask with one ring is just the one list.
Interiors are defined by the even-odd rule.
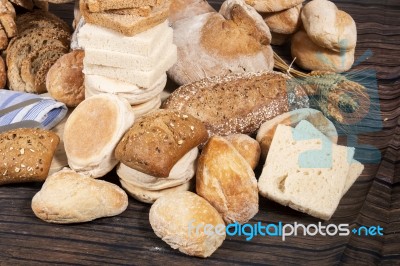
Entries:
[[57,134],[41,129],[1,133],[0,184],[44,181],[59,141]]

